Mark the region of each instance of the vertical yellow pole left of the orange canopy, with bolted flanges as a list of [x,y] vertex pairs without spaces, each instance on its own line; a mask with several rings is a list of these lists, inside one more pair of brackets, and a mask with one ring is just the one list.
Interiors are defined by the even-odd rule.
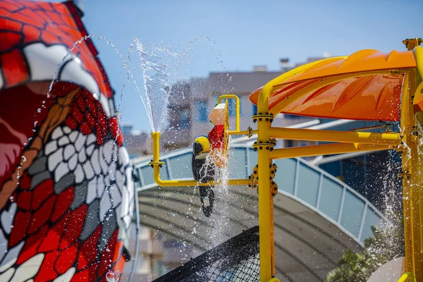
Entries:
[[[269,112],[269,96],[271,87],[264,86],[259,95],[258,112]],[[260,121],[261,119],[261,121]],[[259,118],[257,121],[257,143],[269,141],[269,121]],[[270,197],[270,151],[266,147],[258,149],[259,159],[259,242],[260,242],[260,281],[268,282],[271,279],[271,197]]]

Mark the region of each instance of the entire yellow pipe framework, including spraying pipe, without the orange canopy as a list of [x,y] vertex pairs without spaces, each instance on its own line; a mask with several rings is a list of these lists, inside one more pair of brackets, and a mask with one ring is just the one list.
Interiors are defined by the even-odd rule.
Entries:
[[[271,122],[262,118],[257,121],[257,130],[240,130],[240,100],[235,94],[225,94],[219,97],[218,103],[222,99],[235,99],[236,116],[235,130],[228,130],[228,135],[251,135],[257,133],[257,143],[269,144],[271,138],[284,140],[306,140],[332,142],[334,144],[310,145],[305,147],[290,147],[282,149],[259,149],[258,150],[258,176],[259,176],[259,262],[260,262],[260,282],[278,282],[275,278],[275,258],[274,258],[274,213],[273,198],[270,189],[269,164],[273,159],[309,157],[325,154],[343,154],[349,152],[365,152],[385,149],[398,149],[403,152],[403,201],[404,201],[404,228],[405,228],[405,271],[400,278],[400,282],[420,281],[423,279],[423,202],[420,185],[423,183],[423,173],[419,171],[423,167],[423,157],[419,157],[417,137],[413,135],[415,130],[415,116],[412,110],[412,97],[422,97],[416,92],[417,82],[423,76],[423,48],[416,47],[417,71],[415,69],[401,70],[381,70],[365,71],[362,73],[347,73],[333,77],[320,78],[312,85],[302,88],[298,92],[290,95],[269,110],[269,99],[274,87],[282,85],[283,82],[295,75],[303,73],[314,66],[316,61],[308,63],[294,70],[283,73],[274,80],[266,83],[259,93],[257,109],[259,113],[279,114],[286,107],[293,104],[306,94],[314,92],[326,85],[366,75],[390,75],[391,73],[402,73],[404,75],[403,94],[400,109],[400,133],[367,133],[367,132],[345,132],[335,130],[309,130],[296,128],[272,128]],[[341,57],[345,58],[345,57]],[[334,59],[334,58],[331,58]],[[326,60],[331,60],[326,59]],[[324,60],[324,61],[326,61]],[[419,75],[417,75],[419,72]],[[161,180],[159,168],[159,138],[160,133],[152,133],[153,140],[153,161],[150,163],[154,167],[154,180],[160,186],[198,186],[214,185],[214,181],[209,183],[199,183],[196,180]],[[423,168],[422,168],[423,169]],[[248,179],[231,179],[229,185],[248,185]],[[422,280],[423,281],[423,280]]]

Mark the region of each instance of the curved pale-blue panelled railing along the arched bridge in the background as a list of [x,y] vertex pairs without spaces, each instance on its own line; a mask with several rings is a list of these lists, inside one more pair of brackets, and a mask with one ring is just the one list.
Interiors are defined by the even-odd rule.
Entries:
[[[182,149],[162,157],[162,179],[192,178],[190,159],[192,149]],[[275,180],[278,192],[304,204],[327,221],[338,226],[358,244],[372,236],[371,226],[382,226],[388,220],[367,199],[338,178],[309,164],[303,159],[276,159],[279,167]],[[247,178],[257,164],[257,153],[247,145],[230,149],[229,166],[233,178]],[[148,161],[134,164],[139,177],[137,190],[157,187]]]

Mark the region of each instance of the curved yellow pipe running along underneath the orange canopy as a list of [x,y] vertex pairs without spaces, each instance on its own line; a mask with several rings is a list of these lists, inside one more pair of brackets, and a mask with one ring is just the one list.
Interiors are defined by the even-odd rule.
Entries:
[[[406,70],[404,70],[406,72]],[[302,98],[303,96],[320,89],[321,87],[325,87],[326,85],[331,85],[332,83],[339,82],[341,80],[345,80],[348,78],[359,78],[361,76],[367,75],[390,75],[391,70],[381,70],[381,71],[364,71],[362,73],[346,73],[344,75],[336,75],[327,78],[321,78],[318,82],[314,82],[312,85],[308,85],[301,90],[298,90],[294,94],[286,97],[283,101],[276,104],[273,108],[271,108],[271,114],[279,114],[281,111],[286,109],[290,104],[293,104],[298,99]]]

